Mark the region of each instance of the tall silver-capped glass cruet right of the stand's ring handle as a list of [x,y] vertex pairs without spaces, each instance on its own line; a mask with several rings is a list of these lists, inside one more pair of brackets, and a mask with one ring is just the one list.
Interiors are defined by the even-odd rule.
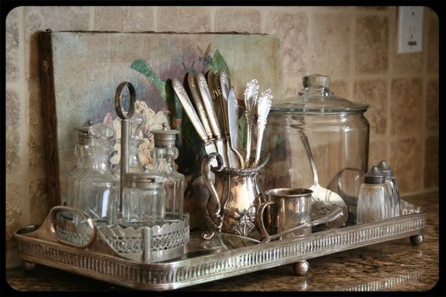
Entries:
[[177,130],[167,129],[163,123],[162,130],[150,131],[154,135],[154,172],[166,175],[166,212],[167,217],[181,219],[183,217],[185,176],[175,169],[174,160],[178,157],[178,149],[175,147]]

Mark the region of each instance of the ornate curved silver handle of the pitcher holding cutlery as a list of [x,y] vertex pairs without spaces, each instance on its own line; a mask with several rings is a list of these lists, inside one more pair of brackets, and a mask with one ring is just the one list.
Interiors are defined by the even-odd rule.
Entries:
[[[222,228],[223,225],[223,217],[220,215],[220,211],[222,209],[222,206],[220,204],[220,198],[218,197],[217,189],[215,189],[215,186],[213,185],[213,182],[211,180],[211,163],[214,159],[217,159],[217,167],[215,167],[215,171],[221,171],[223,169],[223,158],[220,156],[220,154],[213,152],[211,154],[208,154],[207,156],[204,156],[204,159],[201,163],[201,174],[203,177],[204,185],[206,185],[207,189],[209,189],[209,192],[211,192],[211,198],[208,200],[207,204],[209,205],[210,202],[213,202],[217,205],[216,209],[209,213],[209,218],[211,219],[211,222],[218,221],[218,224],[215,224],[216,230],[219,230]],[[215,234],[215,230],[212,230],[210,234],[203,235],[204,239],[211,239],[213,235]]]

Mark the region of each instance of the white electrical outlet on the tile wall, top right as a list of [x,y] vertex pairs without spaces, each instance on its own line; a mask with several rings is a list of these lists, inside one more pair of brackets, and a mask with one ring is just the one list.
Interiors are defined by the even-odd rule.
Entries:
[[423,6],[399,6],[398,54],[423,50]]

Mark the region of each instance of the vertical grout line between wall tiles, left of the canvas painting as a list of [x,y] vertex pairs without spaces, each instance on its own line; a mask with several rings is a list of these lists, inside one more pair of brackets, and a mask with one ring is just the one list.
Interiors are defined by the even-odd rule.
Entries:
[[[26,66],[25,66],[25,60],[26,60],[26,51],[25,51],[25,8],[21,8],[20,14],[19,14],[19,52],[20,55],[20,68],[22,69],[21,75],[19,78],[19,82],[21,82],[21,88],[18,88],[18,95],[21,102],[21,108],[20,108],[20,117],[21,123],[26,122],[27,119],[27,112],[29,110],[29,102],[30,102],[30,94],[28,91],[28,82],[25,78],[26,75]],[[29,160],[27,158],[28,156],[28,143],[27,139],[29,137],[30,133],[30,126],[29,125],[21,125],[20,128],[20,142],[19,142],[19,152],[20,152],[20,166],[19,170],[16,172],[16,174],[19,174],[19,178],[14,178],[14,181],[21,182],[20,187],[20,194],[21,194],[21,226],[27,226],[30,224],[30,214],[29,214],[29,204],[30,204],[30,193],[29,193],[29,187],[30,187],[30,176],[29,171],[27,170]]]

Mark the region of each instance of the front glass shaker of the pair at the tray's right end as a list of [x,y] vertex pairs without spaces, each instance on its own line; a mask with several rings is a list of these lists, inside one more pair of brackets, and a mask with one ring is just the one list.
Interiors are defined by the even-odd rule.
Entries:
[[364,175],[357,199],[356,224],[390,217],[390,195],[384,182],[384,174],[376,166]]

